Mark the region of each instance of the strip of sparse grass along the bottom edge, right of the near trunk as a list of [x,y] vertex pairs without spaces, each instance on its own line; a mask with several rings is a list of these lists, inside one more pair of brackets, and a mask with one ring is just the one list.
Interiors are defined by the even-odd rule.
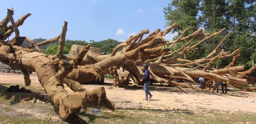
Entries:
[[[88,111],[89,110],[89,111]],[[223,123],[254,123],[255,113],[234,113],[229,111],[208,110],[154,110],[154,109],[119,109],[114,112],[101,111],[98,115],[80,114],[80,118],[92,124],[101,123],[199,123],[199,124],[223,124]]]

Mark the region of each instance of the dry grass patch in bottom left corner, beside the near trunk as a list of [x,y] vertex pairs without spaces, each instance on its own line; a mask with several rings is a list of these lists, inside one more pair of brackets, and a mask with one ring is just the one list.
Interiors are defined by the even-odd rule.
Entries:
[[[9,86],[13,84],[0,85],[0,124],[50,124],[55,123],[51,120],[51,115],[56,115],[54,107],[49,104],[36,104],[30,101],[21,101],[22,98],[27,98],[31,93],[21,92],[7,92]],[[35,87],[36,88],[36,87]],[[21,109],[21,111],[20,111]],[[37,113],[48,113],[42,117],[36,117],[33,112],[26,113],[26,111],[36,111]],[[63,123],[63,122],[61,122]]]

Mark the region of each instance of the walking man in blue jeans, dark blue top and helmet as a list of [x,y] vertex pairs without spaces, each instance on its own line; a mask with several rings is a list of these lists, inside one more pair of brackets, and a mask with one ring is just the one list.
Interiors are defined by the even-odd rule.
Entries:
[[140,82],[145,81],[143,90],[146,93],[146,101],[148,101],[148,95],[149,99],[153,96],[149,91],[148,91],[148,86],[150,85],[150,73],[148,70],[149,65],[148,64],[143,64],[143,71],[145,72],[144,77],[140,80]]

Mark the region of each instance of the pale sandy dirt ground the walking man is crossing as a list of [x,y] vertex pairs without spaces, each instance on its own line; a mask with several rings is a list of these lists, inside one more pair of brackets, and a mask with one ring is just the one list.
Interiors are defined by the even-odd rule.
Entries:
[[[31,86],[41,87],[34,72],[30,75],[30,79],[32,81]],[[149,87],[153,97],[149,101],[145,101],[143,100],[145,98],[143,86],[137,86],[135,89],[117,88],[112,86],[112,82],[112,80],[105,80],[105,84],[82,86],[86,90],[104,87],[107,98],[115,102],[115,109],[117,110],[118,108],[147,108],[200,111],[202,108],[207,108],[208,110],[256,113],[255,92],[228,91],[228,94],[221,94],[220,88],[219,93],[214,94],[211,93],[211,90],[197,92],[192,89],[186,89],[187,93],[184,93],[177,88],[159,87],[159,84],[153,84]],[[24,86],[23,74],[0,73],[0,84]],[[66,85],[64,86],[67,92],[72,92]],[[29,89],[29,87],[26,88]]]

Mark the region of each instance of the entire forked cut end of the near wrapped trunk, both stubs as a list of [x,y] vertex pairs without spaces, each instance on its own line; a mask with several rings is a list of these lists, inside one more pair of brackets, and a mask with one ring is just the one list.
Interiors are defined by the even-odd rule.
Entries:
[[76,92],[63,95],[59,100],[59,116],[74,119],[87,104],[105,106],[114,111],[115,103],[108,100],[104,87],[88,92]]

